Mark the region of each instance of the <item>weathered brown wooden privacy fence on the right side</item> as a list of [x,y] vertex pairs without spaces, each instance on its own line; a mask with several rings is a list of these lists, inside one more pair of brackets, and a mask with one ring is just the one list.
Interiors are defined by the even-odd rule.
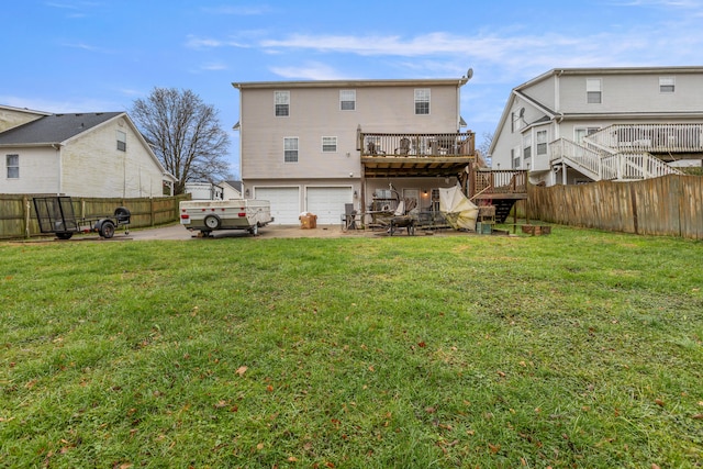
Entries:
[[527,210],[544,222],[703,239],[703,177],[528,187]]

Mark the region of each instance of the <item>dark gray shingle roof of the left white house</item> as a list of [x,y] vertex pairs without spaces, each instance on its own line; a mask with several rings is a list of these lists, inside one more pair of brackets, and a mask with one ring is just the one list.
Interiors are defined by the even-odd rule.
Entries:
[[124,112],[53,114],[0,133],[0,145],[51,145],[102,124]]

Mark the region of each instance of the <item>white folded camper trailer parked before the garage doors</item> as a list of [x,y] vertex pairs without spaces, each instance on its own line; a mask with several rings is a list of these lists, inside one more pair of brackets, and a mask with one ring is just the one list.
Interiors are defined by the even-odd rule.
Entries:
[[180,224],[210,236],[217,230],[245,230],[256,236],[260,227],[274,221],[268,200],[183,200],[179,203]]

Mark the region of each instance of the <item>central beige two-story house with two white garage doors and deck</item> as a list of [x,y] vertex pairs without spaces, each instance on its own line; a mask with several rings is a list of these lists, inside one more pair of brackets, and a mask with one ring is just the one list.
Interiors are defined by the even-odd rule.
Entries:
[[467,81],[233,83],[244,197],[269,200],[279,224],[302,212],[337,224],[349,204],[367,213],[399,199],[431,210],[437,188],[455,186],[476,160],[459,114]]

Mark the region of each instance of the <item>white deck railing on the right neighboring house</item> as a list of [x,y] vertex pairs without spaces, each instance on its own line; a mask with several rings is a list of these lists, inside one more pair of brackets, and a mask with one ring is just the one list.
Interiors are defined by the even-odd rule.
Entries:
[[584,142],[617,153],[700,153],[703,124],[614,124]]

